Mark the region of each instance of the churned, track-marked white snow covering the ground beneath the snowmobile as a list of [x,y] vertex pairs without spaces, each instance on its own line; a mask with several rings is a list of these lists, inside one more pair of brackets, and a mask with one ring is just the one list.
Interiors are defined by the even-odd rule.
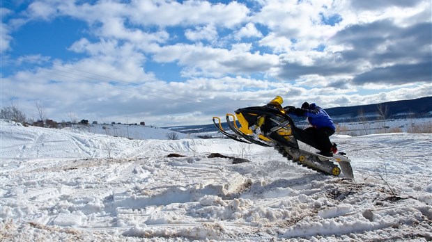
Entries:
[[350,180],[229,139],[0,124],[1,241],[432,239],[431,134],[332,136]]

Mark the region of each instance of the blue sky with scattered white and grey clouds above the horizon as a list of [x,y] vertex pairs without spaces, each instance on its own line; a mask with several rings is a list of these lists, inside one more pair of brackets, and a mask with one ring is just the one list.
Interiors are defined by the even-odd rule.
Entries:
[[323,108],[432,96],[431,16],[430,0],[3,0],[1,107],[166,127],[276,95]]

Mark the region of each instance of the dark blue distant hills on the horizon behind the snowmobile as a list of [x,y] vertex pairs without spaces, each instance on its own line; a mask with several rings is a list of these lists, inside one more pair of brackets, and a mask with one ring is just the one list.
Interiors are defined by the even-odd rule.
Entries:
[[[376,120],[380,116],[378,114],[379,106],[383,111],[386,111],[385,116],[387,119],[432,118],[432,97],[383,102],[381,104],[327,108],[325,111],[327,111],[327,113],[332,117],[334,122],[353,122],[360,120],[360,118]],[[224,119],[224,117],[220,118]],[[222,127],[229,130],[226,122],[222,123]],[[217,131],[214,124],[164,127],[164,129],[171,129],[172,131],[178,131],[185,134]]]

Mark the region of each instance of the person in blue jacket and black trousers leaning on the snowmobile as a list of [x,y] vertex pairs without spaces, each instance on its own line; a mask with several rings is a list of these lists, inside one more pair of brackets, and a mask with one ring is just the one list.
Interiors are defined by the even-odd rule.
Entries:
[[330,142],[330,136],[336,131],[332,118],[324,111],[323,108],[316,104],[309,104],[304,102],[302,108],[293,108],[292,106],[288,109],[288,113],[294,113],[297,116],[306,116],[307,121],[312,127],[305,129],[310,131],[316,137],[319,150],[318,154],[323,156],[333,156],[332,150],[336,150],[336,144]]

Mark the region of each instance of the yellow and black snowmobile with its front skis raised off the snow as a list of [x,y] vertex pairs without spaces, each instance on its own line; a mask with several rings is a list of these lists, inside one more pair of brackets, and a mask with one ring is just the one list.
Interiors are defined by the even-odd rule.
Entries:
[[345,177],[353,179],[353,169],[346,154],[337,153],[337,149],[334,149],[332,156],[318,154],[314,135],[295,127],[288,110],[281,106],[283,102],[277,96],[264,106],[240,108],[235,111],[236,115],[226,113],[226,123],[232,132],[224,130],[218,117],[213,117],[213,123],[222,134],[233,140],[274,147],[288,160],[311,170],[333,176],[339,176],[342,172]]

